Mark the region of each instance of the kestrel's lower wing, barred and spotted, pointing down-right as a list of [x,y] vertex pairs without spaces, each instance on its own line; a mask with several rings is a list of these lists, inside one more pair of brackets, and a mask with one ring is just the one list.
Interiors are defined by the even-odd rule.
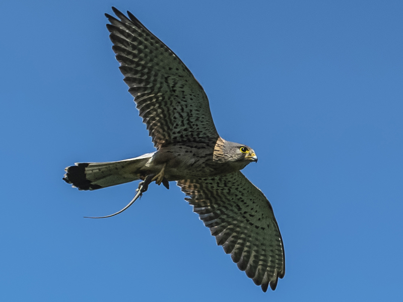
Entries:
[[263,291],[274,290],[285,274],[283,240],[273,208],[241,172],[178,181],[193,211]]

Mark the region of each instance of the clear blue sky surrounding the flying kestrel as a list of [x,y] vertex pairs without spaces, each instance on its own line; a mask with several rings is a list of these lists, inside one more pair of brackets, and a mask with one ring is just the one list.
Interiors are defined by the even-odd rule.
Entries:
[[[221,136],[250,145],[286,275],[263,293],[184,201],[65,184],[152,152],[104,13],[129,10],[193,72]],[[403,3],[2,1],[0,298],[400,301]]]

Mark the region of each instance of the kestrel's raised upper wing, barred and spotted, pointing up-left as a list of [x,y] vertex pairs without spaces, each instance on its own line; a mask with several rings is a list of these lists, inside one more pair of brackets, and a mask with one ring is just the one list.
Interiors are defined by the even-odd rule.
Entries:
[[112,49],[154,146],[214,140],[209,100],[183,62],[135,16],[105,14]]

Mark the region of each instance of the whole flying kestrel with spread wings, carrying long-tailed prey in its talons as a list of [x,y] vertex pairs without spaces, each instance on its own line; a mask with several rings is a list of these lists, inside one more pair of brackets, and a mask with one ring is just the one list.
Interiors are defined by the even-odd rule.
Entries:
[[76,163],[63,180],[96,190],[142,180],[128,208],[148,188],[170,181],[187,195],[217,244],[265,292],[285,274],[284,245],[271,204],[241,172],[257,162],[254,150],[220,137],[209,100],[190,70],[135,16],[105,14],[112,49],[155,152],[108,163]]

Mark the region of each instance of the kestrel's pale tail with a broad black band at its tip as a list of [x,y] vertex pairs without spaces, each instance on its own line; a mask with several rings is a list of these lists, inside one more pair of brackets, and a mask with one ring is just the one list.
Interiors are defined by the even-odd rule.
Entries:
[[97,190],[140,179],[141,169],[152,158],[148,153],[137,158],[109,163],[76,163],[64,169],[63,180],[79,190]]

